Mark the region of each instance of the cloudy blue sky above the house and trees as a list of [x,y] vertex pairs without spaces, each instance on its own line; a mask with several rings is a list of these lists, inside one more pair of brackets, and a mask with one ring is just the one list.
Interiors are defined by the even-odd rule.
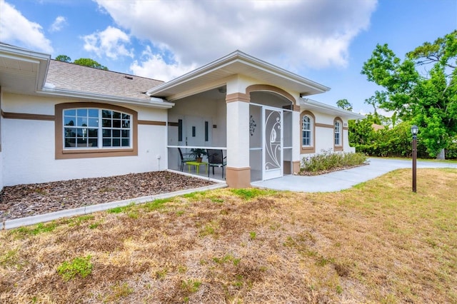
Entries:
[[239,49],[331,91],[353,111],[378,89],[360,74],[376,44],[403,56],[457,29],[457,0],[0,0],[0,41],[171,80]]

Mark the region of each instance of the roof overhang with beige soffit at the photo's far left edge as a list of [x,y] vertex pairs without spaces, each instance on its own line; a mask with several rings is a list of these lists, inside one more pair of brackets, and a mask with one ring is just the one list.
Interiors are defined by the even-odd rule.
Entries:
[[0,86],[16,93],[35,93],[44,86],[51,55],[0,44]]

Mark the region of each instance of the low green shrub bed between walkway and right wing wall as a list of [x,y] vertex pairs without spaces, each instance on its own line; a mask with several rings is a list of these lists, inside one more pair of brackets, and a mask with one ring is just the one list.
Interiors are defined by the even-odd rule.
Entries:
[[331,153],[331,149],[323,150],[315,156],[303,158],[301,171],[328,171],[336,168],[358,166],[365,163],[367,157],[363,153]]

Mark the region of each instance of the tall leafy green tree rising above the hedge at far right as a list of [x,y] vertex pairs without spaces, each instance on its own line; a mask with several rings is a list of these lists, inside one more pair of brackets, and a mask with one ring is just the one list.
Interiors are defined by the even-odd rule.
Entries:
[[419,138],[434,157],[443,155],[457,135],[456,66],[457,31],[453,31],[433,44],[418,46],[403,61],[387,44],[378,44],[361,73],[385,89],[379,108],[397,111],[402,121],[419,126]]

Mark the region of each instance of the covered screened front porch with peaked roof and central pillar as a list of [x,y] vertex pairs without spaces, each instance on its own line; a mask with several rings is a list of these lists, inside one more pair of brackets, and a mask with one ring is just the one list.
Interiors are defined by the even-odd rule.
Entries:
[[[251,182],[298,172],[298,100],[327,90],[236,51],[147,93],[174,103],[167,121],[169,169],[246,188]],[[223,161],[214,167],[214,176],[209,156],[203,158],[208,166],[184,160],[196,148],[220,151]]]

